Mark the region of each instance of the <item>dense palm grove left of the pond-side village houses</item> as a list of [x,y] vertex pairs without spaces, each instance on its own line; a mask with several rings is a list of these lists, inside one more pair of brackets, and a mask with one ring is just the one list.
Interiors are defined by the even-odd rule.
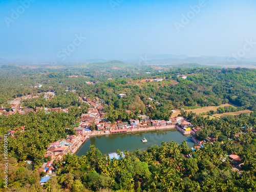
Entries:
[[[77,118],[87,110],[86,105],[80,108],[72,106],[69,113],[51,112],[46,114],[44,110],[37,113],[30,112],[27,115],[18,113],[0,116],[0,134],[3,141],[7,131],[16,131],[24,126],[25,130],[17,131],[8,138],[9,155],[15,157],[19,162],[27,159],[35,161],[35,167],[44,162],[45,148],[50,142],[66,138],[67,135],[75,134],[74,127]],[[4,145],[0,146],[4,150]]]

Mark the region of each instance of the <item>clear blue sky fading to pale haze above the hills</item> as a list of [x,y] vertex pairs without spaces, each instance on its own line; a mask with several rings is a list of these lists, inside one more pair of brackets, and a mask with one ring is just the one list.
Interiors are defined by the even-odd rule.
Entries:
[[255,0],[0,1],[0,58],[256,57],[255,24]]

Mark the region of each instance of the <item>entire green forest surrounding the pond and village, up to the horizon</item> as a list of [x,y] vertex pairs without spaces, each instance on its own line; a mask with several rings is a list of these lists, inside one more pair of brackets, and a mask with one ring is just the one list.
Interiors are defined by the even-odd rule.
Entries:
[[[25,108],[70,108],[69,113],[12,114],[0,116],[0,150],[4,151],[4,134],[25,127],[8,137],[9,185],[4,188],[4,170],[0,170],[2,191],[256,191],[256,70],[179,68],[172,66],[134,67],[112,61],[96,65],[45,67],[2,66],[0,69],[0,105],[10,109],[7,100],[25,95],[38,98],[22,101]],[[146,73],[148,72],[148,73]],[[186,79],[177,77],[187,75]],[[163,81],[154,81],[162,78]],[[152,79],[148,82],[146,79]],[[90,82],[89,84],[87,82]],[[38,87],[41,84],[42,87]],[[36,87],[37,86],[37,87]],[[73,92],[70,92],[74,90]],[[45,92],[54,92],[52,99]],[[125,94],[119,98],[119,94]],[[146,151],[124,152],[125,157],[110,160],[91,146],[86,156],[66,155],[54,162],[56,177],[45,185],[38,167],[47,162],[46,147],[51,142],[75,134],[74,127],[88,105],[79,96],[98,97],[111,122],[139,119],[168,120],[175,109],[219,106],[209,113],[249,109],[250,114],[211,119],[182,111],[201,131],[196,138],[216,139],[204,147],[191,150],[185,142],[162,142]],[[121,149],[120,149],[121,150]],[[120,154],[120,151],[117,151]],[[3,154],[3,153],[2,153]],[[242,173],[234,172],[228,155],[242,158]],[[189,156],[190,155],[190,156]],[[3,167],[4,156],[0,156]],[[25,160],[35,162],[26,165]]]

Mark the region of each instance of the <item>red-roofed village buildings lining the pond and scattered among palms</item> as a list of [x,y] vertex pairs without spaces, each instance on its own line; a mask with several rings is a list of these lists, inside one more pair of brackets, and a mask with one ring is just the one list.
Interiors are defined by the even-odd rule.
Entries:
[[[75,92],[76,90],[74,90]],[[54,92],[47,92],[44,93],[46,98],[53,98]],[[125,96],[125,94],[120,94],[119,97]],[[20,101],[22,99],[27,98],[35,98],[36,96],[27,95],[21,98],[14,99],[12,101],[9,101],[10,104],[12,104],[13,112],[19,113],[18,110],[20,110]],[[38,96],[37,96],[38,97]],[[89,97],[79,97],[80,101],[86,102],[89,104],[90,108],[88,109],[87,114],[82,114],[81,117],[78,120],[78,126],[74,126],[74,131],[76,132],[76,135],[70,135],[67,138],[63,138],[61,140],[55,141],[50,143],[50,145],[46,149],[46,155],[45,157],[51,157],[50,161],[45,162],[42,167],[38,169],[39,173],[45,172],[46,177],[42,177],[40,183],[44,184],[48,181],[48,179],[51,177],[54,171],[54,161],[62,160],[63,155],[68,153],[76,153],[78,148],[82,145],[82,143],[89,137],[94,135],[101,135],[101,134],[113,134],[113,133],[121,133],[121,132],[132,132],[132,131],[146,131],[146,130],[152,130],[152,129],[177,129],[184,135],[192,135],[191,140],[195,143],[195,146],[191,148],[192,150],[196,150],[196,148],[202,148],[204,147],[204,142],[214,142],[216,139],[212,139],[210,137],[206,138],[205,141],[199,141],[196,139],[196,133],[201,131],[200,127],[194,127],[189,121],[184,119],[183,117],[174,117],[170,118],[169,120],[152,120],[150,117],[146,115],[139,115],[139,119],[130,119],[127,122],[122,122],[120,120],[115,121],[114,123],[111,123],[106,118],[106,112],[104,112],[104,100],[100,100],[98,97],[95,99],[90,99]],[[61,108],[53,108],[53,109],[47,109],[47,108],[36,108],[35,113],[38,110],[44,110],[45,113],[51,113],[52,111],[61,111],[65,113],[69,113],[69,108],[67,109],[61,109]],[[4,110],[0,110],[0,112],[3,112]],[[126,111],[127,113],[130,113],[130,111]],[[95,126],[95,130],[92,131],[92,126]],[[15,137],[14,134],[16,132],[24,132],[25,127],[21,126],[16,130],[10,131],[9,135],[12,137]],[[111,154],[112,158],[120,158],[118,155]],[[191,158],[191,155],[187,155],[184,158]],[[229,155],[230,164],[233,165],[233,167],[236,167],[237,169],[241,169],[242,160],[241,157],[237,155]],[[223,159],[223,161],[226,161],[227,158]],[[29,162],[29,161],[28,161]],[[33,162],[29,162],[32,163]]]

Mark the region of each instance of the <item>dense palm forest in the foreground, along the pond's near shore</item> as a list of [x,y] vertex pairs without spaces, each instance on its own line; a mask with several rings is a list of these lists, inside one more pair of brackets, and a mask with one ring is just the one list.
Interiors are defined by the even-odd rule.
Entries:
[[[65,164],[54,162],[57,176],[44,186],[38,183],[37,170],[31,174],[30,166],[16,166],[13,155],[9,186],[12,191],[255,191],[256,136],[241,128],[255,121],[255,113],[221,120],[191,117],[195,125],[207,127],[207,135],[212,138],[222,135],[219,141],[205,143],[196,151],[190,150],[185,141],[180,145],[169,141],[144,152],[124,152],[125,157],[111,161],[91,145],[86,156],[66,155]],[[241,131],[244,134],[236,137]],[[232,172],[227,154],[242,157],[244,172]]]

